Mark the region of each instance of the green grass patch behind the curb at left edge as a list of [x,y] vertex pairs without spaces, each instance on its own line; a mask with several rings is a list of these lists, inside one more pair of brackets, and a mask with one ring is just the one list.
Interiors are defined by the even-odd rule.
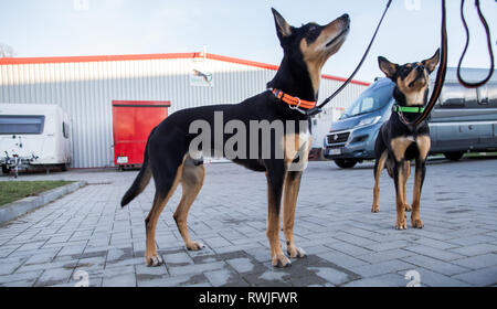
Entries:
[[0,181],[0,206],[24,199],[34,196],[44,191],[49,191],[73,181]]

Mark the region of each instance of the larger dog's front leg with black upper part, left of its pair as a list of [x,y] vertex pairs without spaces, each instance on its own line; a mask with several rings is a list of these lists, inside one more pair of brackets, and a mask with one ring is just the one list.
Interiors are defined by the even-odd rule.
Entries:
[[285,256],[279,243],[279,210],[282,206],[282,193],[285,182],[285,168],[281,164],[267,167],[267,230],[266,235],[271,246],[271,260],[275,267],[287,267],[292,263]]

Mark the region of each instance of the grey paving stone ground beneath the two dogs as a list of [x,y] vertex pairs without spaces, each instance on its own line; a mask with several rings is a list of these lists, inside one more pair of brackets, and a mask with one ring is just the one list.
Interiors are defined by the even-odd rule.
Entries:
[[[136,174],[21,175],[88,185],[0,226],[0,286],[406,286],[409,270],[420,274],[421,286],[497,285],[495,159],[430,162],[421,205],[425,227],[408,231],[394,230],[394,188],[385,172],[380,213],[372,214],[371,163],[340,170],[310,162],[295,220],[296,243],[308,256],[285,269],[269,262],[264,173],[232,163],[207,166],[190,211],[191,236],[205,248],[183,246],[172,219],[178,189],[157,226],[166,263],[145,266],[144,220],[154,184],[119,206]],[[411,177],[410,195],[412,184]]]

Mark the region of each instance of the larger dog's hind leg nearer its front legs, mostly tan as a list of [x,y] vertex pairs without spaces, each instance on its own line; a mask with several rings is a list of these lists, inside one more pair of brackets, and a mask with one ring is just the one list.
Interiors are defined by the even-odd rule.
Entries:
[[203,179],[205,177],[205,168],[203,164],[195,164],[190,157],[187,157],[183,164],[183,171],[181,174],[181,188],[182,196],[181,201],[175,212],[175,221],[181,237],[184,241],[184,245],[190,251],[198,251],[203,248],[203,245],[198,242],[192,242],[190,234],[188,233],[187,217],[190,206],[195,200],[203,185]]

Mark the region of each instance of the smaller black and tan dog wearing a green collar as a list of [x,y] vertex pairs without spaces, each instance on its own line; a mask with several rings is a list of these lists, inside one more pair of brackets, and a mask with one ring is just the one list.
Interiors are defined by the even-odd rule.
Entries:
[[[396,191],[396,230],[406,230],[405,211],[411,211],[412,227],[422,228],[420,219],[420,198],[426,173],[426,157],[430,151],[430,128],[426,121],[411,126],[423,113],[429,94],[429,75],[435,70],[440,50],[435,55],[422,62],[399,65],[380,56],[381,71],[395,83],[393,106],[390,119],[384,122],[378,134],[374,153],[374,191],[371,212],[380,211],[378,204],[380,193],[380,175],[387,167],[393,178]],[[412,209],[408,204],[405,183],[411,174],[411,160],[415,160],[415,177]]]

